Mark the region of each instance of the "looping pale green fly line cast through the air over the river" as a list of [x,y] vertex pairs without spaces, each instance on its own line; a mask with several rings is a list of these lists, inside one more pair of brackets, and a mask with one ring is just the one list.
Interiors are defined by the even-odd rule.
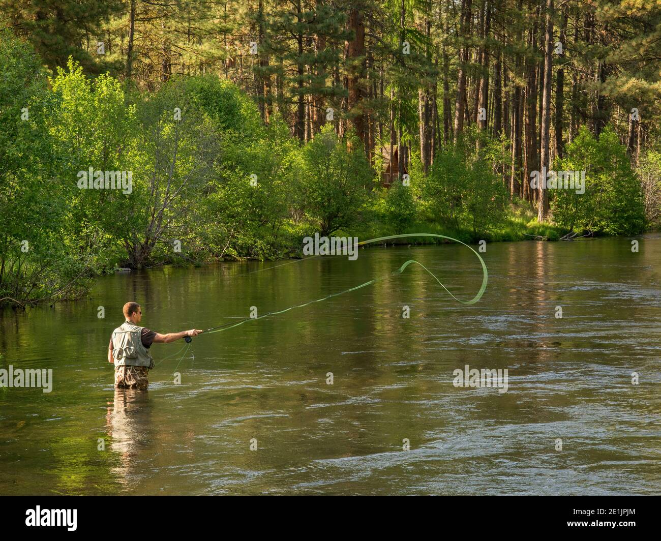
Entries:
[[[392,272],[393,275],[394,274],[401,274],[408,267],[408,265],[411,265],[412,263],[416,263],[416,265],[420,265],[420,267],[422,267],[422,269],[426,270],[428,272],[428,274],[430,274],[432,276],[432,278],[434,278],[434,280],[436,280],[436,282],[438,282],[440,284],[440,286],[442,286],[442,288],[444,288],[444,290],[446,290],[447,294],[449,294],[449,296],[451,296],[457,302],[460,302],[461,304],[475,304],[476,302],[478,302],[482,298],[482,295],[484,294],[484,292],[486,290],[486,284],[487,284],[487,281],[488,281],[488,272],[486,270],[485,261],[482,259],[482,257],[479,255],[479,253],[477,253],[472,247],[470,247],[466,243],[461,242],[460,240],[453,239],[452,237],[447,237],[446,235],[437,235],[436,233],[406,233],[406,234],[403,234],[403,235],[389,235],[387,237],[377,237],[375,239],[369,239],[369,240],[366,240],[366,241],[359,242],[358,245],[366,245],[366,244],[373,243],[373,242],[385,241],[385,240],[389,240],[389,239],[401,239],[401,238],[405,238],[405,237],[435,237],[435,238],[440,238],[440,239],[448,239],[448,240],[457,242],[459,244],[463,244],[465,247],[470,249],[475,255],[477,255],[477,259],[480,260],[480,263],[482,265],[482,284],[481,284],[480,290],[477,292],[475,297],[473,297],[471,300],[465,301],[465,300],[461,300],[461,299],[458,299],[457,297],[455,297],[446,288],[446,286],[443,284],[443,282],[441,282],[438,278],[436,278],[436,276],[434,275],[434,273],[431,270],[427,269],[424,265],[422,265],[422,263],[420,263],[419,261],[415,261],[414,259],[409,259],[408,261],[405,261],[405,263],[401,267],[399,267],[399,269]],[[319,256],[315,255],[313,257],[309,257],[309,258],[305,258],[305,259],[313,259],[314,257],[319,257]],[[276,267],[282,267],[283,265],[290,265],[291,263],[298,263],[299,261],[303,261],[303,259],[299,259],[298,261],[292,261],[290,263],[282,263],[280,265],[274,265],[272,267],[268,267],[268,269],[274,269]],[[268,269],[260,269],[260,271],[261,270],[268,270]],[[257,272],[260,272],[260,271],[257,271]],[[255,272],[255,271],[253,271],[253,272]],[[371,284],[374,284],[375,282],[379,282],[379,281],[384,280],[384,279],[385,279],[385,277],[375,278],[373,280],[369,280],[368,282],[364,282],[364,284],[360,284],[358,286],[355,286],[355,287],[350,288],[350,289],[346,289],[344,291],[340,291],[338,293],[333,293],[331,295],[327,295],[327,296],[325,296],[321,299],[311,300],[311,301],[308,301],[308,302],[304,302],[302,304],[296,304],[294,306],[290,306],[289,308],[285,308],[284,310],[274,310],[272,312],[265,313],[264,315],[260,315],[260,317],[246,317],[245,319],[241,319],[241,321],[237,321],[237,322],[230,321],[229,323],[224,323],[223,325],[216,325],[215,327],[210,327],[209,329],[206,329],[206,331],[202,331],[202,332],[203,333],[217,333],[219,331],[232,329],[233,327],[238,327],[239,325],[243,325],[243,323],[246,323],[247,321],[256,321],[256,319],[262,319],[262,317],[268,317],[269,315],[288,312],[289,310],[292,310],[293,308],[303,308],[303,306],[307,306],[309,304],[312,304],[313,302],[321,302],[321,301],[327,300],[331,297],[336,297],[336,296],[342,295],[344,293],[352,292],[352,291],[358,290],[360,288],[364,288],[366,286],[369,286]],[[190,344],[192,342],[192,338],[190,336],[187,336],[185,338],[185,340],[186,340],[186,343],[188,343],[188,344]]]

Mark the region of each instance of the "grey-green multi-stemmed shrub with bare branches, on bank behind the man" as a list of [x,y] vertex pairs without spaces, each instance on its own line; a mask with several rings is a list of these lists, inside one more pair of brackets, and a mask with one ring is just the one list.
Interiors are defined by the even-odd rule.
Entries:
[[188,81],[176,78],[145,95],[136,117],[134,192],[123,214],[128,261],[142,267],[163,255],[190,260],[205,223],[199,203],[219,168],[217,122],[188,93]]

